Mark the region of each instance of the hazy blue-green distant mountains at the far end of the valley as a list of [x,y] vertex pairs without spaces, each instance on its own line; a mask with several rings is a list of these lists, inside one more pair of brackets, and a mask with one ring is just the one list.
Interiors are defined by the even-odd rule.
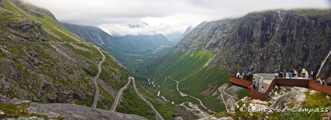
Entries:
[[145,65],[169,52],[174,44],[162,34],[111,36],[95,26],[61,23],[84,40],[99,46],[119,60],[130,72],[145,69]]

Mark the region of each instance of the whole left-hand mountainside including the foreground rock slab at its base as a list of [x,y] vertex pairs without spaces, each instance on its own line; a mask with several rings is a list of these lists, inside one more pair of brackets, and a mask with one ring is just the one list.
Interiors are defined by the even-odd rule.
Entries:
[[[118,112],[155,119],[134,92],[134,85],[127,85],[127,69],[106,51],[67,30],[49,10],[0,0],[0,16],[0,119],[144,119]],[[109,112],[124,85],[128,88],[116,102],[118,112]],[[144,97],[149,95],[137,87]]]

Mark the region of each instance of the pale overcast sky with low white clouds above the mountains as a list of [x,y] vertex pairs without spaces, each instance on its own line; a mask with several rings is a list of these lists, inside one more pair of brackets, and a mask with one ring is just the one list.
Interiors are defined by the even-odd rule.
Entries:
[[[188,26],[263,10],[331,8],[331,0],[23,0],[68,24],[97,26],[110,35],[184,33]],[[139,27],[130,25],[140,24]]]

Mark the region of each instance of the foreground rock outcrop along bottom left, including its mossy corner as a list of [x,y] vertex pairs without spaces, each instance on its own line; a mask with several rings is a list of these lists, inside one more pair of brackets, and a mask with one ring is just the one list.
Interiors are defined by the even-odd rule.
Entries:
[[[143,120],[144,117],[140,117],[133,114],[122,114],[118,112],[111,112],[109,110],[100,110],[95,108],[89,108],[83,105],[63,104],[63,103],[31,103],[31,101],[20,101],[16,98],[10,99],[6,96],[1,96],[1,101],[6,99],[10,101],[8,105],[15,105],[16,108],[5,108],[12,110],[13,112],[19,112],[29,115],[19,116],[15,115],[16,119],[136,119]],[[0,119],[11,119],[9,114],[3,112],[3,108],[0,108]],[[19,111],[18,111],[19,110]],[[9,117],[9,118],[8,118]],[[13,117],[13,116],[12,116]]]

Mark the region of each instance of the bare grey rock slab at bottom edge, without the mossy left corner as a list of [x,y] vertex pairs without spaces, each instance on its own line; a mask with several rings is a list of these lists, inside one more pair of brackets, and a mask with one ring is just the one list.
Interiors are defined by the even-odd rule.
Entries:
[[63,119],[145,119],[144,117],[139,117],[137,115],[122,114],[118,112],[111,112],[109,110],[93,109],[81,105],[59,103],[31,103],[30,107],[26,108],[24,112],[43,114],[51,118],[63,117]]

